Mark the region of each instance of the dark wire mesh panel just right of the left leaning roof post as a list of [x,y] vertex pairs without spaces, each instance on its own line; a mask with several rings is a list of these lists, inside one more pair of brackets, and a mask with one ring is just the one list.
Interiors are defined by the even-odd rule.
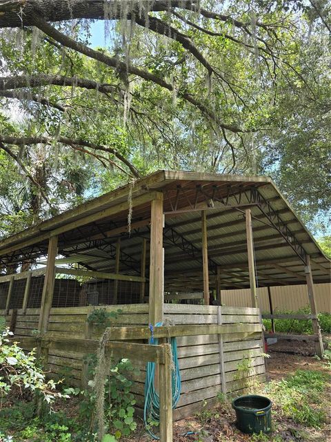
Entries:
[[77,307],[81,284],[71,278],[57,278],[54,281],[52,307]]

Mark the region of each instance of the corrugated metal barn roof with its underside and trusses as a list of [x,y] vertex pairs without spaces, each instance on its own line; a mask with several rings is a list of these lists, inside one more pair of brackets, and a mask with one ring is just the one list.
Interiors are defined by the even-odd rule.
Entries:
[[[0,242],[3,262],[43,256],[54,229],[59,234],[59,264],[79,262],[99,271],[114,271],[116,242],[121,238],[120,271],[139,274],[142,238],[149,238],[150,202],[134,207],[131,232],[128,209],[71,228],[88,215],[163,193],[165,289],[201,289],[201,209],[207,210],[210,286],[219,266],[223,288],[249,285],[244,211],[252,211],[254,252],[261,287],[305,283],[305,256],[311,258],[315,282],[330,281],[330,260],[269,177],[158,171],[134,184],[90,200],[70,211]],[[68,230],[66,230],[68,226]],[[69,229],[70,228],[70,229]],[[66,259],[67,258],[67,259]],[[148,256],[147,256],[148,259]]]

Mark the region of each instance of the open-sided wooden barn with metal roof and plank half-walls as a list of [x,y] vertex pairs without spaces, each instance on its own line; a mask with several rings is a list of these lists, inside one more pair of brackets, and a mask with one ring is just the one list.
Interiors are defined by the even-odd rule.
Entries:
[[[323,351],[313,280],[328,282],[330,262],[268,177],[158,171],[3,240],[0,265],[0,314],[27,346],[38,334],[50,373],[70,367],[72,381],[101,334],[86,322],[94,309],[121,309],[117,340],[168,319],[158,333],[178,336],[178,416],[263,381],[257,287],[305,282]],[[242,288],[251,307],[222,306],[221,292]]]

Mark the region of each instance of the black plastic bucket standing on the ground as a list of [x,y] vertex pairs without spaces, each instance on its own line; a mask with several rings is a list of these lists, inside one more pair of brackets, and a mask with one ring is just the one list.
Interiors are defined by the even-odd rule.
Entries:
[[232,401],[237,427],[243,433],[268,433],[271,430],[271,401],[264,396],[248,394]]

